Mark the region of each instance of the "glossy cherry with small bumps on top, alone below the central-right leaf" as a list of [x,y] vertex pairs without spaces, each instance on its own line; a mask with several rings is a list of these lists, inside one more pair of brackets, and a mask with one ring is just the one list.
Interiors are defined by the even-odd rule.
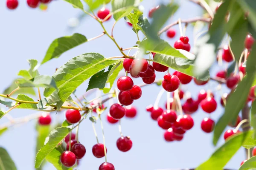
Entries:
[[180,79],[175,75],[167,73],[163,77],[162,86],[168,92],[175,91],[180,86]]

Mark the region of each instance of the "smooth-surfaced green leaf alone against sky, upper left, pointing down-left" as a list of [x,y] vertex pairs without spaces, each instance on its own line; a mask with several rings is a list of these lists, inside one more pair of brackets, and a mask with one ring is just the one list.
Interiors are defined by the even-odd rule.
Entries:
[[[66,0],[68,1],[68,0]],[[70,0],[71,1],[71,0]],[[76,0],[73,0],[74,2]],[[80,2],[80,0],[77,0],[77,2]],[[81,2],[80,2],[81,3]],[[53,58],[58,58],[63,54],[64,52],[83,44],[84,42],[87,42],[87,38],[82,35],[75,33],[72,36],[66,36],[66,37],[60,37],[55,39],[51,45],[49,46],[46,55],[41,62],[41,64],[44,64],[45,62],[48,62],[49,60]]]

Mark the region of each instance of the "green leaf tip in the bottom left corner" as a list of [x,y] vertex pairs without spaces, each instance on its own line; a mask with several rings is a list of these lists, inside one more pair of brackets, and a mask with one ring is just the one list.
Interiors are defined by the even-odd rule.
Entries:
[[14,161],[3,147],[0,147],[0,170],[17,170]]

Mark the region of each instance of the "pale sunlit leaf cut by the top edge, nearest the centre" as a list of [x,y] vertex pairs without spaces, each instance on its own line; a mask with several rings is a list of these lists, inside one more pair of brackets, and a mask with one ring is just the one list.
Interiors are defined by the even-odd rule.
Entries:
[[131,10],[137,8],[140,0],[112,0],[113,17],[117,21],[128,15]]

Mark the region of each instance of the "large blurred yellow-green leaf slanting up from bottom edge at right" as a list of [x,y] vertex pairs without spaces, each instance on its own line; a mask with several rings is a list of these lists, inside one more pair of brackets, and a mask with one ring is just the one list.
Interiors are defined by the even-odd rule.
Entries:
[[235,155],[244,141],[252,135],[252,131],[238,133],[230,137],[212,156],[195,170],[223,170],[227,162]]

